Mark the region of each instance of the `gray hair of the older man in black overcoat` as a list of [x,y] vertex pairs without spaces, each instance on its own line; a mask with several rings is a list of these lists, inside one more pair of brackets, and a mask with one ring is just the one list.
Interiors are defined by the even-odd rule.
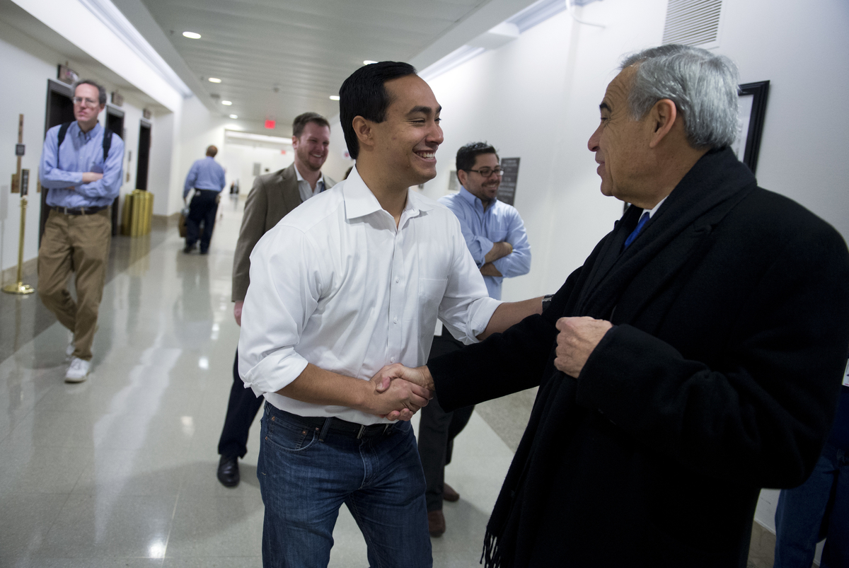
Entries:
[[636,72],[628,104],[635,120],[668,98],[683,117],[691,146],[713,149],[734,143],[739,79],[731,59],[702,48],[670,44],[628,55],[620,68],[632,65]]

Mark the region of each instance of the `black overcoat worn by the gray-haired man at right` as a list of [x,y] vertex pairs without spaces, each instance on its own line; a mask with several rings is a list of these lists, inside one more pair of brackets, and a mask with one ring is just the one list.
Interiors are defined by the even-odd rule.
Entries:
[[[849,346],[841,235],[729,149],[621,252],[641,212],[543,315],[430,363],[447,410],[540,387],[486,565],[742,568],[760,489],[817,461]],[[554,324],[577,315],[616,327],[574,379],[554,369]]]

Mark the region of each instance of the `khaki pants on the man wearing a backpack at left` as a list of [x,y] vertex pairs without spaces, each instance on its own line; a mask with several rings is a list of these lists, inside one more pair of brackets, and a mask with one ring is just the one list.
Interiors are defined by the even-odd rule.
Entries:
[[[38,249],[38,295],[73,332],[74,357],[86,361],[92,359],[111,238],[109,209],[93,215],[50,211]],[[76,272],[76,302],[68,291],[71,272]]]

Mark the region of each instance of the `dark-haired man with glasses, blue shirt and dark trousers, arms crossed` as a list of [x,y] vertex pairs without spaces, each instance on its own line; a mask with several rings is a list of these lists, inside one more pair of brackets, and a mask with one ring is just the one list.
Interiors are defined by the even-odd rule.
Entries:
[[[501,300],[504,278],[521,276],[531,270],[531,245],[519,211],[498,200],[502,170],[498,153],[486,142],[466,144],[457,151],[459,193],[442,197],[439,202],[453,211],[469,252],[483,274],[490,297]],[[433,339],[430,357],[438,357],[463,346],[441,329]],[[451,463],[454,438],[469,423],[474,406],[447,413],[434,398],[421,409],[419,457],[424,468],[427,489],[428,529],[433,537],[445,532],[442,500],[457,501],[460,496],[445,483],[445,466]]]

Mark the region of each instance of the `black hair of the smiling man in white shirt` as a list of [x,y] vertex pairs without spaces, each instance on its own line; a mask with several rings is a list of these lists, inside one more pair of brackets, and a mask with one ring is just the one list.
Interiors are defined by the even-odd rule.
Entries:
[[362,116],[367,121],[385,121],[386,109],[392,102],[386,92],[385,82],[415,74],[416,68],[408,63],[380,61],[363,65],[342,83],[339,89],[339,114],[351,158],[357,160],[360,153],[360,141],[354,132],[354,118]]

